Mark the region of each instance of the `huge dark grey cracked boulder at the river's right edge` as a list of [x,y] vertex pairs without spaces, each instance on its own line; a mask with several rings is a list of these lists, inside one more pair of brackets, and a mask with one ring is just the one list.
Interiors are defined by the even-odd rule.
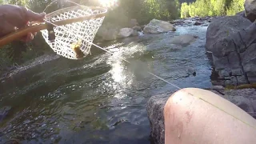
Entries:
[[219,85],[256,82],[255,23],[241,16],[215,19],[206,32],[206,50],[212,52]]

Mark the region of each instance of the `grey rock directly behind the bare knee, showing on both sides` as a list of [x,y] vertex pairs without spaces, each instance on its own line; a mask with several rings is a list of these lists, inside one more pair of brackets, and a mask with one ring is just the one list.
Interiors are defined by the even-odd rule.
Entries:
[[[222,86],[210,89],[245,110],[256,118],[256,91],[255,89],[225,90]],[[155,144],[165,143],[165,127],[163,110],[171,94],[159,94],[150,98],[146,104],[148,118],[150,120],[151,137]]]

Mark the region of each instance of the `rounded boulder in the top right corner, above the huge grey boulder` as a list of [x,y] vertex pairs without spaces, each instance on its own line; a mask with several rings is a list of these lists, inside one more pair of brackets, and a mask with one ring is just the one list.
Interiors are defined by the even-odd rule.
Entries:
[[251,22],[254,22],[256,19],[256,0],[246,0],[244,6],[246,18],[250,19]]

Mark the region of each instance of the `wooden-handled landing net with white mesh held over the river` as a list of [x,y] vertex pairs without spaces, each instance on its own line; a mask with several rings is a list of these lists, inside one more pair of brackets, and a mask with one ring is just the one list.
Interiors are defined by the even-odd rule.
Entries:
[[[0,46],[22,38],[27,33],[34,33],[41,30],[43,38],[45,38],[47,44],[55,52],[66,58],[78,59],[74,57],[74,53],[70,51],[70,49],[67,49],[67,45],[70,45],[69,42],[74,43],[78,38],[81,38],[82,44],[80,50],[82,50],[82,53],[86,56],[86,54],[90,52],[90,42],[93,41],[98,28],[102,25],[106,12],[106,9],[98,6],[74,6],[57,10],[47,14],[46,21],[50,21],[53,24],[55,36],[58,42],[61,43],[58,44],[56,41],[50,42],[47,38],[48,30],[46,30],[48,25],[41,23],[35,26],[27,26],[26,28],[0,38]],[[74,28],[76,28],[76,30],[74,30]],[[71,38],[71,36],[74,38]],[[62,41],[60,41],[61,39]]]

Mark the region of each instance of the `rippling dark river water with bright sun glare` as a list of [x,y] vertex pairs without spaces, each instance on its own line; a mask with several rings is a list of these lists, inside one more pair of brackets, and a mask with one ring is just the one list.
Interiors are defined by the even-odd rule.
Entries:
[[[206,29],[178,27],[168,34],[122,39],[106,46],[113,55],[58,58],[11,85],[2,82],[0,109],[6,115],[0,122],[0,143],[150,143],[146,102],[154,94],[177,89],[147,70],[180,87],[210,87]],[[171,44],[179,34],[199,38],[190,46]],[[188,67],[197,75],[187,74]]]

